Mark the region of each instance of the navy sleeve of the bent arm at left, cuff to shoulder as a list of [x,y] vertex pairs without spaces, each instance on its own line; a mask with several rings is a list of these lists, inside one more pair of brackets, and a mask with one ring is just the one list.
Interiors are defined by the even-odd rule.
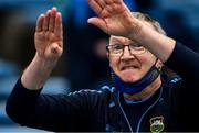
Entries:
[[[6,111],[17,123],[46,131],[78,131],[86,124],[97,100],[96,92],[76,91],[69,95],[41,95],[28,90],[18,80]],[[84,123],[82,123],[84,122]],[[80,129],[77,129],[80,128]]]

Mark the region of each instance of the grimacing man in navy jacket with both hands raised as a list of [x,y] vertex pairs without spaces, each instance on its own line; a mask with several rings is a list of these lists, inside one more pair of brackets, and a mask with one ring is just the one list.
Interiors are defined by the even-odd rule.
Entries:
[[[100,15],[88,23],[112,35],[114,87],[40,95],[63,49],[61,15],[53,8],[38,19],[36,54],[8,99],[8,115],[48,131],[198,131],[199,55],[164,35],[148,16],[132,14],[123,0],[88,3]],[[163,64],[181,78],[160,75]]]

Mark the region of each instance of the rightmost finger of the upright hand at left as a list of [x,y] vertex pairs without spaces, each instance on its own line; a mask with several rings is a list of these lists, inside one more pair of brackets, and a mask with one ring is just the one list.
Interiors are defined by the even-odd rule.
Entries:
[[62,27],[62,14],[59,12],[55,16],[55,26],[54,26],[54,34],[59,38],[63,38],[63,27]]

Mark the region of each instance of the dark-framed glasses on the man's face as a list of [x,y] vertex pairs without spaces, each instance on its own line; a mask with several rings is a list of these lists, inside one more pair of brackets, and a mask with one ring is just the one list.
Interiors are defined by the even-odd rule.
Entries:
[[129,44],[129,45],[121,45],[121,44],[115,44],[115,45],[108,45],[106,46],[106,49],[108,51],[108,53],[111,55],[114,56],[121,56],[124,53],[124,48],[128,47],[128,51],[130,52],[130,54],[133,55],[139,55],[145,53],[145,47],[140,46],[140,45],[135,45],[135,44]]

